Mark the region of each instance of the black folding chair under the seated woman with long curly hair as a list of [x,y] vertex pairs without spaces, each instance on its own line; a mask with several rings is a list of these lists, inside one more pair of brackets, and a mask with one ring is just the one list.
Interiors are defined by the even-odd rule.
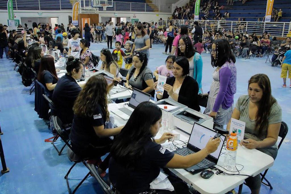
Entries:
[[71,162],[74,162],[74,164],[71,166],[71,168],[68,170],[67,174],[65,175],[64,179],[66,179],[67,181],[67,187],[68,187],[68,191],[69,194],[74,194],[77,189],[81,186],[81,184],[86,180],[86,178],[90,175],[90,172],[87,173],[87,175],[81,180],[81,182],[76,186],[76,188],[74,189],[74,191],[72,192],[70,189],[70,185],[69,185],[69,180],[68,180],[68,175],[70,174],[72,168],[74,168],[74,166],[77,163],[83,163],[85,166],[86,165],[86,160],[88,159],[83,159],[80,156],[78,156],[74,151],[72,146],[69,144],[69,140],[66,138],[68,136],[68,134],[66,134],[64,132],[64,130],[62,129],[62,121],[57,117],[57,116],[52,116],[52,119],[54,121],[54,126],[56,128],[56,133],[58,134],[58,136],[61,137],[61,139],[65,142],[65,145],[68,146],[68,150],[67,150],[67,154],[68,154],[68,158]]

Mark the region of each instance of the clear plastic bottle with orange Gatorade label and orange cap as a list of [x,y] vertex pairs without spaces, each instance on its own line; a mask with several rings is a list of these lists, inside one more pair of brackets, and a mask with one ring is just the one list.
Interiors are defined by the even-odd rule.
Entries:
[[233,131],[226,142],[226,153],[224,157],[224,168],[229,171],[235,171],[237,150],[237,134]]

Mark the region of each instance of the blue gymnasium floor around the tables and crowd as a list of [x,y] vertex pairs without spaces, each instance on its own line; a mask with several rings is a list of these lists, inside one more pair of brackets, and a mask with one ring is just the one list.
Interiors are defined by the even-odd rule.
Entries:
[[[114,47],[114,45],[113,45]],[[93,43],[90,49],[95,55],[107,48],[106,43]],[[150,50],[148,67],[153,71],[155,67],[163,65],[166,55],[163,55],[164,45],[153,45]],[[202,54],[204,92],[210,88],[213,68],[210,65],[210,54]],[[5,58],[5,57],[4,57]],[[0,59],[0,124],[3,131],[1,136],[6,164],[9,173],[0,174],[0,193],[31,194],[31,193],[68,193],[64,175],[72,165],[68,160],[66,149],[58,156],[50,143],[44,139],[52,136],[45,122],[38,118],[34,111],[34,94],[29,95],[30,87],[24,87],[19,73],[13,71],[11,60]],[[282,107],[283,121],[291,126],[291,88],[282,88],[280,78],[281,69],[271,67],[265,63],[266,58],[237,59],[237,93],[235,102],[240,95],[247,94],[248,79],[256,73],[265,73],[272,84],[272,94]],[[287,86],[289,86],[289,80]],[[289,119],[288,119],[289,118]],[[268,171],[267,178],[274,189],[269,190],[262,185],[261,193],[289,193],[290,192],[290,132],[287,134],[278,152],[274,166]],[[61,147],[61,143],[58,144]],[[260,162],[254,159],[254,162]],[[2,167],[0,166],[0,169]],[[72,190],[87,174],[88,170],[82,164],[77,164],[69,175]],[[77,193],[102,193],[93,177],[87,180],[77,190]],[[247,186],[243,193],[250,193]]]

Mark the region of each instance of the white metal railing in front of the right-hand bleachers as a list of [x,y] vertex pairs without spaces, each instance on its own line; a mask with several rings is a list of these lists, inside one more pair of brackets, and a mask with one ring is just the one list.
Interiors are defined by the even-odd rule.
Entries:
[[[159,26],[168,27],[168,22],[172,21],[173,25],[180,27],[186,25],[188,28],[194,28],[194,20],[162,20],[158,23]],[[230,30],[247,33],[263,34],[268,32],[273,36],[287,36],[290,34],[291,22],[249,22],[242,21],[237,24],[237,21],[217,21],[217,20],[198,20],[204,30]]]

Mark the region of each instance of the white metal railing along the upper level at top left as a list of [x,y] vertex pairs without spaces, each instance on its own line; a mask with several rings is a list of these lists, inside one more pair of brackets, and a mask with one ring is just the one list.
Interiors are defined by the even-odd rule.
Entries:
[[[79,0],[80,1],[80,0]],[[113,1],[113,7],[107,7],[111,11],[139,11],[139,12],[172,12],[171,4],[155,3],[135,3]],[[81,0],[80,8],[91,6],[91,0]],[[7,3],[0,2],[0,9],[6,9]],[[14,0],[13,8],[15,10],[72,10],[72,3],[69,0]],[[102,8],[99,9],[102,11]]]

